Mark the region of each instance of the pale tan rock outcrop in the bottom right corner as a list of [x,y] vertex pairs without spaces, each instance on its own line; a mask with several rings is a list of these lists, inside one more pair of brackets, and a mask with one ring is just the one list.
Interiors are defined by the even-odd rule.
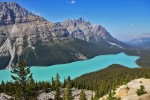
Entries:
[[[140,96],[137,95],[137,89],[140,89],[140,86],[145,87],[147,93]],[[115,91],[115,97],[119,100],[150,100],[150,79],[140,78],[135,79],[129,82],[126,85],[122,85]],[[108,95],[100,98],[100,100],[107,100]]]

